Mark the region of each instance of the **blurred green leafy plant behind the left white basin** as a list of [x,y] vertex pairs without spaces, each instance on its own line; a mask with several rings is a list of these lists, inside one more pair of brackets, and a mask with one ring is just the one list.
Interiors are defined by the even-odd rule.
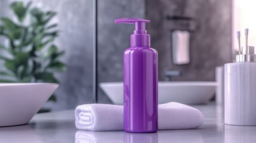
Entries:
[[[10,5],[16,21],[0,18],[0,36],[7,41],[5,45],[0,43],[0,60],[4,63],[0,82],[58,83],[54,73],[65,70],[65,64],[60,61],[64,51],[54,45],[57,23],[50,24],[57,13],[30,8],[31,4],[13,2]],[[56,101],[56,98],[52,95],[49,100]]]

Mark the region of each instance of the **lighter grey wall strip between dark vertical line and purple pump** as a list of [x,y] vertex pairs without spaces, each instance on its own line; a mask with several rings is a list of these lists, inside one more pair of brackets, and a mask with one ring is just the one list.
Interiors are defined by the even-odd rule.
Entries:
[[[115,24],[116,18],[144,18],[145,4],[141,0],[98,1],[98,83],[123,80],[123,53],[130,46],[132,24]],[[110,100],[98,88],[98,101]]]

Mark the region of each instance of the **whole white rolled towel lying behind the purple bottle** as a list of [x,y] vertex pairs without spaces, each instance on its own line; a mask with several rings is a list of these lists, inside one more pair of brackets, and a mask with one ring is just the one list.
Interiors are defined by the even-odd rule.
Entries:
[[[124,130],[124,107],[110,104],[84,104],[76,107],[76,128],[91,131]],[[177,102],[158,105],[158,129],[196,129],[203,114],[196,108]]]

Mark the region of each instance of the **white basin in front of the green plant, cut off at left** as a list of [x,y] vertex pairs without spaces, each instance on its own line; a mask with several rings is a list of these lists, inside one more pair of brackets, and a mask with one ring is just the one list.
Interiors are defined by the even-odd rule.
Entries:
[[55,83],[0,83],[0,127],[29,123],[57,88]]

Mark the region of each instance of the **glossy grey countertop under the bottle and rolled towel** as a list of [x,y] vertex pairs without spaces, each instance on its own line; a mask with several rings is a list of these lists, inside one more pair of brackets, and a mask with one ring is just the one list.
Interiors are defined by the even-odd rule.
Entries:
[[36,114],[28,125],[0,128],[0,142],[256,142],[256,127],[224,125],[220,106],[211,103],[193,107],[205,116],[198,129],[157,133],[78,131],[74,110],[65,110]]

